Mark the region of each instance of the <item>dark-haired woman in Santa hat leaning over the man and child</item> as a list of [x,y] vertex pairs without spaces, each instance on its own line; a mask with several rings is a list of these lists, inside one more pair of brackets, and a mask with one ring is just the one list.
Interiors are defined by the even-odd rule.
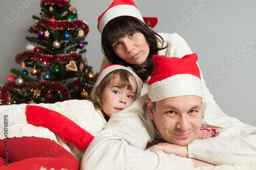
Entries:
[[[177,33],[156,33],[147,27],[132,0],[115,0],[98,18],[102,51],[101,68],[110,64],[131,66],[143,80],[141,95],[147,93],[147,81],[154,70],[153,55],[182,58],[192,54],[185,40]],[[203,76],[203,97],[214,104]]]

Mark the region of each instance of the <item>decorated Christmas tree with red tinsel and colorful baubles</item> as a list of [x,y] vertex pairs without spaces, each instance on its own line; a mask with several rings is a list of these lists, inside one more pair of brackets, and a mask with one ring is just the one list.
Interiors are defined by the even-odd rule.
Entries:
[[15,57],[20,69],[11,69],[1,89],[1,105],[87,99],[95,83],[85,56],[87,23],[68,0],[42,0],[40,7],[40,17],[32,16],[33,36],[26,37],[30,43]]

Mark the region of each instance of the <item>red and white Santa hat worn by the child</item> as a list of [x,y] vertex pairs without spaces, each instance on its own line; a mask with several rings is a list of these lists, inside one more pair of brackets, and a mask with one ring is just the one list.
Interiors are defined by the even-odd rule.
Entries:
[[132,70],[131,67],[125,67],[125,66],[122,66],[122,65],[118,65],[118,64],[113,64],[113,65],[108,65],[106,66],[104,69],[102,69],[97,77],[97,80],[94,84],[94,87],[92,89],[92,92],[91,92],[91,98],[94,98],[94,95],[95,95],[95,89],[96,87],[99,85],[99,83],[101,82],[101,80],[106,76],[108,75],[111,71],[113,70],[116,70],[116,69],[124,69],[124,70],[127,70],[129,72],[131,72],[131,74],[135,77],[136,79],[136,82],[137,82],[137,91],[136,91],[136,95],[135,95],[135,99],[138,99],[139,98],[139,95],[140,95],[140,92],[141,92],[141,89],[142,89],[142,86],[143,86],[143,82],[142,80],[140,79],[140,77],[138,75],[136,75],[136,73]]

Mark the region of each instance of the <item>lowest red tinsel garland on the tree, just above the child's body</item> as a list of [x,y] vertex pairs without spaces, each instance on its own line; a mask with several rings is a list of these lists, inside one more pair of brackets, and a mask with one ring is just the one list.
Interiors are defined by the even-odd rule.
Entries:
[[49,88],[49,90],[50,91],[58,91],[62,101],[71,99],[68,88],[60,82],[48,82],[48,81],[40,81],[40,82],[36,82],[36,83],[26,82],[22,86],[17,86],[15,84],[15,81],[12,81],[12,82],[6,83],[2,87],[2,89],[1,89],[1,104],[0,105],[9,105],[10,104],[9,103],[9,99],[10,99],[9,90],[10,89],[22,90],[24,88],[27,88],[32,91],[32,90],[38,88],[35,84],[39,84],[39,88],[42,88],[42,89],[46,88],[46,86],[48,86],[48,85],[51,85],[52,87]]

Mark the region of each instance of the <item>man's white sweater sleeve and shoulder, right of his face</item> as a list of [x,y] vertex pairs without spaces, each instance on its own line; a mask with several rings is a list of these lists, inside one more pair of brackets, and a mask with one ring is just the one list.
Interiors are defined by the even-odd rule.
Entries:
[[188,145],[189,158],[217,165],[256,165],[256,127],[229,117],[210,102],[204,101],[203,105],[203,125],[220,128],[220,134],[217,137],[191,142]]

